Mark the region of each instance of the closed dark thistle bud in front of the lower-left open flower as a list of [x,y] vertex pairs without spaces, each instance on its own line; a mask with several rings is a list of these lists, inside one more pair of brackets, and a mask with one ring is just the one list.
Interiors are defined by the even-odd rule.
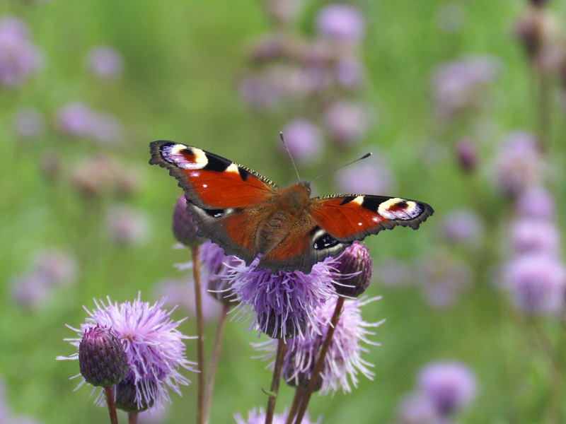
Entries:
[[85,331],[79,344],[79,367],[87,383],[101,387],[118,384],[129,370],[122,343],[103,326]]

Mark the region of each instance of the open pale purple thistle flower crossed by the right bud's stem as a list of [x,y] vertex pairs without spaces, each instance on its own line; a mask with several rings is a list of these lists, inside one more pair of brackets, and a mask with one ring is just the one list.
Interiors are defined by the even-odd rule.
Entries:
[[[335,333],[330,348],[324,360],[323,370],[320,372],[320,389],[322,394],[329,391],[337,391],[342,387],[344,393],[352,391],[352,384],[357,387],[358,375],[361,372],[369,379],[373,379],[374,373],[369,370],[373,367],[362,359],[362,352],[367,351],[362,347],[362,342],[373,346],[379,343],[369,341],[367,336],[374,335],[369,327],[376,327],[384,321],[368,323],[362,319],[362,306],[380,298],[367,299],[366,297],[356,300],[346,300],[342,308],[342,314],[336,325]],[[308,323],[304,337],[291,338],[287,341],[289,348],[284,358],[283,375],[288,384],[299,386],[306,384],[311,378],[318,353],[323,346],[330,319],[332,319],[337,297],[333,296],[324,305],[317,307],[313,312],[313,320]],[[275,357],[277,341],[270,340],[264,343],[256,343],[255,348],[266,351],[262,356],[265,360]]]

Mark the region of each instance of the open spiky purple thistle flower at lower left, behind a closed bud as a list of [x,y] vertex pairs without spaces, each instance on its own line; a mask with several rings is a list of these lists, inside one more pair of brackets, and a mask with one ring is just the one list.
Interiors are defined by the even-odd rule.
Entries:
[[[178,331],[179,324],[186,318],[173,321],[171,313],[174,308],[169,312],[161,309],[164,299],[149,305],[148,302],[141,302],[141,293],[133,303],[123,302],[118,305],[117,302],[112,303],[110,298],[107,299],[108,305],[103,300],[94,300],[96,310],[88,311],[85,307],[90,315],[86,318],[86,324],[81,324],[80,329],[67,325],[69,329],[76,331],[78,337],[66,340],[78,349],[83,334],[88,329],[97,325],[111,328],[124,346],[129,365],[126,379],[133,384],[137,406],[141,409],[152,404],[162,404],[163,401],[171,403],[168,389],[180,395],[179,384],[186,386],[190,383],[180,374],[179,368],[194,371],[191,365],[195,364],[185,357],[183,339],[189,337]],[[58,360],[78,358],[78,352],[69,357],[57,357]],[[84,383],[82,379],[78,387]],[[105,404],[103,391],[98,394],[96,404]]]

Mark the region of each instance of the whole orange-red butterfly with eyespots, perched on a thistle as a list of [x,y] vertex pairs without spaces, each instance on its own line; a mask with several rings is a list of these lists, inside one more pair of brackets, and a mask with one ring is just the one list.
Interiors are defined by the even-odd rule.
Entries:
[[419,228],[434,213],[421,201],[368,194],[311,198],[308,182],[282,189],[231,160],[173,141],[149,145],[151,165],[167,168],[207,237],[259,269],[310,273],[355,240],[396,225]]

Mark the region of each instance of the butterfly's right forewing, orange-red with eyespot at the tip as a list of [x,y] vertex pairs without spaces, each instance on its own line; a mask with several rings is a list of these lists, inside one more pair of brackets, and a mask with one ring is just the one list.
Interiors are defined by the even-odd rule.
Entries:
[[341,241],[362,240],[395,225],[417,229],[434,211],[425,203],[387,196],[324,196],[313,199],[311,215]]

